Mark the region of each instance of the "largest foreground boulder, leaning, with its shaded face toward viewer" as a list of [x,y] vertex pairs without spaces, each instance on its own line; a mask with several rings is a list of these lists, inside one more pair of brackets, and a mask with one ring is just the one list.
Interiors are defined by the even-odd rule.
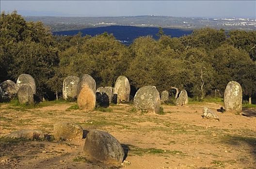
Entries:
[[119,141],[100,130],[91,130],[86,135],[83,152],[86,158],[105,164],[121,164],[125,155]]

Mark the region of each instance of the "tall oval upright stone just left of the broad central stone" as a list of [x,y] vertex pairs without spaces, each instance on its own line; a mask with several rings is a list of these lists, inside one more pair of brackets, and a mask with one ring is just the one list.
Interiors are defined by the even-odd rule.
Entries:
[[117,94],[117,103],[128,102],[130,97],[130,84],[125,76],[119,76],[115,82],[114,94]]

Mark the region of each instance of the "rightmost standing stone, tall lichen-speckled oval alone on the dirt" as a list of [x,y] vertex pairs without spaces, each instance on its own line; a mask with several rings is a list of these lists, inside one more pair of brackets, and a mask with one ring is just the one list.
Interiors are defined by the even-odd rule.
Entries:
[[241,113],[242,88],[238,82],[231,81],[224,92],[224,107],[226,112]]

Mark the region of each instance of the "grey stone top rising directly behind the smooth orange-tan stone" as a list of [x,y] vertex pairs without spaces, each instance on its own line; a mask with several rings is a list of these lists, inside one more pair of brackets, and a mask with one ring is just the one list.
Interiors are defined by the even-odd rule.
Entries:
[[87,85],[89,88],[91,88],[94,92],[96,92],[96,82],[92,76],[89,74],[84,74],[80,78],[80,82],[78,84],[78,94],[80,93],[83,86]]

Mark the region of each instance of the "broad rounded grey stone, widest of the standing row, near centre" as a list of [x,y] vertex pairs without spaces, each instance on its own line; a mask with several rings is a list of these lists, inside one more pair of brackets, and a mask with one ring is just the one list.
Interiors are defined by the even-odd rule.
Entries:
[[133,104],[137,111],[158,113],[161,101],[157,88],[152,85],[141,87],[135,94]]

